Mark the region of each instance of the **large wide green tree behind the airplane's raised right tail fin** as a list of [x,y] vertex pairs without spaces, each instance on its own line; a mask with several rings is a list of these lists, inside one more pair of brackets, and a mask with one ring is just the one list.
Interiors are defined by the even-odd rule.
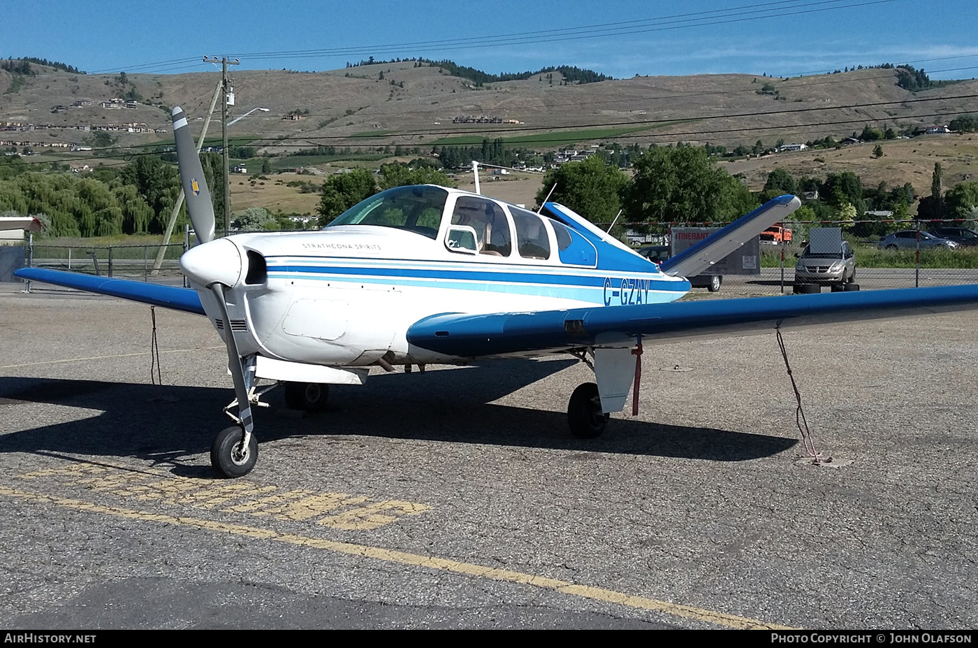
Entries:
[[758,205],[747,187],[716,168],[699,147],[657,147],[633,167],[623,201],[625,217],[633,222],[730,221]]

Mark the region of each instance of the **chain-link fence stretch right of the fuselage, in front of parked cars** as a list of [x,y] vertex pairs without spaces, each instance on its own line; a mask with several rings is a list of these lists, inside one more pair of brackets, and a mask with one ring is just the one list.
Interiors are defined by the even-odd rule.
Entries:
[[[629,242],[637,249],[666,248],[680,228],[719,228],[727,223],[625,224]],[[960,220],[785,221],[761,235],[760,258],[746,274],[724,274],[717,297],[753,297],[795,292],[796,284],[841,290],[846,284],[860,290],[924,288],[978,283],[978,234],[973,223]],[[862,227],[860,227],[862,226]],[[854,263],[845,258],[824,258],[819,267],[826,276],[812,279],[811,265],[802,258],[811,230],[838,227]],[[867,232],[879,234],[866,234]],[[882,232],[889,232],[884,235]],[[859,236],[858,233],[866,235]],[[665,250],[657,251],[669,255]],[[675,254],[675,249],[672,250]],[[829,272],[833,264],[845,266]],[[796,277],[796,269],[799,276]],[[804,276],[802,276],[804,275]],[[705,283],[705,282],[700,282]],[[696,283],[693,284],[694,286]],[[805,290],[814,290],[809,288]],[[699,293],[702,291],[694,291]]]

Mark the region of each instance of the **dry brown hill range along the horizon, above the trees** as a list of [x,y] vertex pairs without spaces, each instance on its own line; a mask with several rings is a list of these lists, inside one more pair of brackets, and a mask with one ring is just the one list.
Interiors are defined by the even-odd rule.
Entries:
[[[202,117],[219,79],[218,72],[129,74],[123,85],[116,74],[74,74],[38,65],[32,68],[37,73],[22,77],[22,87],[0,95],[0,122],[34,124],[33,138],[44,142],[80,142],[84,135],[73,130],[76,126],[132,122],[164,132],[116,131],[113,135],[119,137],[119,143],[166,139],[170,107],[180,105],[190,116]],[[283,144],[301,146],[364,144],[362,139],[347,138],[368,132],[378,134],[371,144],[415,146],[459,132],[497,137],[546,133],[560,127],[590,130],[645,125],[648,129],[637,133],[581,133],[578,144],[688,141],[733,148],[753,145],[757,140],[771,144],[781,139],[803,142],[825,135],[839,137],[861,131],[866,124],[900,128],[944,123],[950,117],[934,114],[978,110],[973,99],[953,99],[978,94],[978,81],[911,93],[896,85],[892,69],[786,79],[747,74],[637,76],[566,86],[559,85],[561,79],[555,73],[554,85],[541,75],[482,88],[435,67],[415,68],[412,62],[325,72],[232,69],[232,73],[237,97],[233,116],[259,106],[270,109],[269,113],[248,116],[233,126],[233,133],[284,138]],[[11,88],[13,80],[10,72],[0,70],[0,88]],[[133,89],[144,102],[136,108],[99,107],[100,102]],[[71,108],[78,101],[91,103]],[[882,102],[905,103],[866,106]],[[863,107],[840,108],[853,105]],[[67,108],[55,112],[58,106]],[[283,118],[291,112],[300,112],[303,118]],[[777,112],[781,114],[774,114]],[[452,123],[453,117],[480,115],[521,123]],[[694,121],[653,128],[663,119]],[[39,128],[45,125],[53,127]],[[548,148],[543,143],[536,146]]]

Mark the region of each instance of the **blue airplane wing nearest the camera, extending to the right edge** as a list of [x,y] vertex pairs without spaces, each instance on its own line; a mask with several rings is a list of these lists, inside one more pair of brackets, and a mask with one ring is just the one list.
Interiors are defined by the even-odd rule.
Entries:
[[676,301],[626,306],[472,315],[443,313],[408,329],[417,347],[460,357],[629,347],[697,337],[978,309],[978,284],[742,300]]

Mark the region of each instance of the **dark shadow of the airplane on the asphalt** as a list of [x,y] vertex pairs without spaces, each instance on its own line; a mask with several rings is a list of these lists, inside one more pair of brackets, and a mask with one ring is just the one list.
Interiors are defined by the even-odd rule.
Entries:
[[[567,393],[554,393],[539,403],[558,411],[493,404],[574,362],[504,360],[461,370],[371,376],[364,386],[333,386],[327,411],[304,416],[288,410],[282,391],[274,390],[264,398],[272,407],[256,410],[256,434],[266,443],[355,434],[707,461],[771,456],[797,443],[781,437],[628,419],[612,419],[599,439],[576,440],[569,435],[563,411]],[[230,386],[0,377],[0,412],[31,402],[98,412],[0,435],[0,453],[133,456],[185,473],[189,468],[185,458],[207,451],[213,436],[230,424],[221,408],[231,397]],[[646,400],[643,404],[647,408],[651,403]],[[11,420],[16,420],[15,411],[8,411]],[[269,451],[274,450],[270,447]]]

